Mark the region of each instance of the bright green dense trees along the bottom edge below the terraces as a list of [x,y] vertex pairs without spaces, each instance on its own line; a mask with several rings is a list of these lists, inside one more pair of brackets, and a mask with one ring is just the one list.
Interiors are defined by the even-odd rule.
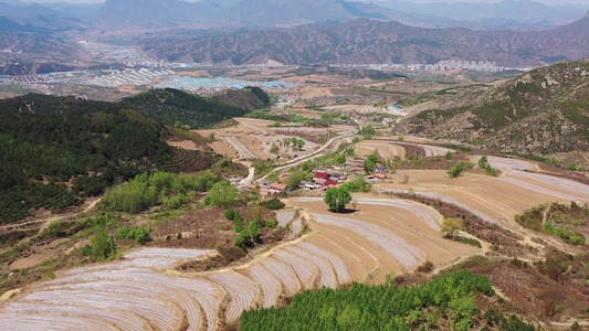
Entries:
[[[354,284],[347,290],[323,288],[296,295],[287,308],[245,311],[241,329],[414,330],[438,329],[440,320],[448,320],[453,330],[469,330],[475,324],[473,317],[480,314],[475,300],[477,292],[494,293],[488,278],[469,270],[402,289],[360,284]],[[509,322],[503,320],[502,330],[529,330],[509,328]]]

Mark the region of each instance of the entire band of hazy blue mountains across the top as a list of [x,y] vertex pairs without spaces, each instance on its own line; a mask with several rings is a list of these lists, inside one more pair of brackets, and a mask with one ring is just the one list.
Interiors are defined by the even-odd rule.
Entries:
[[589,56],[589,18],[581,18],[587,9],[527,0],[106,0],[48,6],[11,1],[0,2],[0,61],[76,61],[84,53],[76,42],[98,38],[136,45],[155,61],[201,64],[463,60],[540,66]]

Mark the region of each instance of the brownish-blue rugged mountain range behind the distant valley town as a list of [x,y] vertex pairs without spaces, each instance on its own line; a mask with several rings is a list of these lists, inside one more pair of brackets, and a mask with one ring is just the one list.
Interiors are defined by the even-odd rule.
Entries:
[[589,56],[589,17],[544,32],[422,29],[360,19],[338,25],[307,24],[221,36],[152,36],[139,44],[156,58],[207,64],[408,64],[472,60],[505,66],[540,66]]

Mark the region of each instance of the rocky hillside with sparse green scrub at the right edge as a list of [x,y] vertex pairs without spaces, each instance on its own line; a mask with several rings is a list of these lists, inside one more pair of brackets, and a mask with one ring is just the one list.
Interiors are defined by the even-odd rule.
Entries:
[[[472,97],[472,96],[471,96]],[[589,60],[541,67],[457,108],[425,110],[396,134],[520,153],[589,149]]]

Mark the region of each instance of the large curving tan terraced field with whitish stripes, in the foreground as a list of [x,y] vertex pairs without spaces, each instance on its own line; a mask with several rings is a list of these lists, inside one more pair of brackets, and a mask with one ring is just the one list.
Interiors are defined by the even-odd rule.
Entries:
[[[214,253],[144,248],[34,284],[0,306],[0,316],[10,330],[214,330],[244,309],[271,307],[301,290],[381,282],[425,259],[445,263],[478,252],[441,238],[440,215],[427,206],[358,197],[358,211],[344,217],[329,214],[318,197],[293,199],[315,231],[245,266],[180,274],[170,269]],[[284,220],[296,233],[303,216],[293,216]]]

